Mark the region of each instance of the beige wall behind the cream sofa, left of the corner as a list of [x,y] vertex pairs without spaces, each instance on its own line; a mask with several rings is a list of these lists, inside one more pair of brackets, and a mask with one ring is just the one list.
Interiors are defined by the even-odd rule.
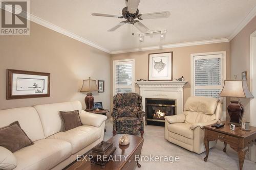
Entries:
[[[93,92],[95,101],[110,108],[111,56],[87,44],[31,22],[30,36],[0,36],[0,110],[79,100],[83,79],[105,80],[105,92]],[[49,98],[6,100],[6,69],[51,74]]]

